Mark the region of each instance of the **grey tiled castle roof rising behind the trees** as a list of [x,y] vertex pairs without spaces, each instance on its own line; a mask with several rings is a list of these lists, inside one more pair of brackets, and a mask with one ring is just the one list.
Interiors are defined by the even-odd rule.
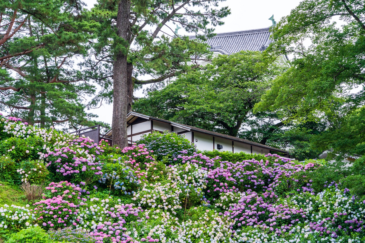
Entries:
[[[196,39],[195,36],[189,36],[189,38]],[[239,51],[262,51],[271,42],[270,27],[219,33],[206,41],[211,47],[211,51],[222,54],[233,54]]]

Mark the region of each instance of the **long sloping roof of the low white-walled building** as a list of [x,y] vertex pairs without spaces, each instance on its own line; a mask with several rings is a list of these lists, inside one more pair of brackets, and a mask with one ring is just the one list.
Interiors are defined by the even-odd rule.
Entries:
[[[172,121],[168,121],[168,120],[157,118],[157,117],[151,117],[149,115],[143,115],[141,113],[137,113],[137,112],[134,112],[134,111],[131,111],[130,113],[128,113],[128,115],[127,115],[127,125],[132,124],[132,122],[134,122],[138,118],[143,118],[143,119],[152,120],[152,121],[160,121],[160,122],[168,123],[172,126],[176,126],[178,128],[181,128],[181,129],[184,129],[184,130],[187,130],[187,131],[196,131],[196,132],[201,132],[201,133],[205,133],[205,134],[210,134],[210,135],[216,136],[216,137],[223,137],[223,138],[227,138],[227,139],[230,139],[230,140],[243,142],[245,144],[250,144],[250,145],[258,146],[258,147],[261,147],[261,148],[266,148],[266,149],[272,150],[274,152],[285,153],[285,154],[289,153],[286,150],[274,148],[274,147],[271,147],[271,146],[268,146],[268,145],[260,144],[258,142],[253,142],[253,141],[246,140],[246,139],[239,138],[239,137],[229,136],[227,134],[212,132],[212,131],[209,131],[209,130],[196,128],[196,127],[193,127],[193,126],[188,126],[188,125],[185,125],[185,124],[180,124],[180,123],[177,123],[177,122],[172,122]],[[105,135],[111,136],[111,132],[112,132],[112,129],[110,129]]]

